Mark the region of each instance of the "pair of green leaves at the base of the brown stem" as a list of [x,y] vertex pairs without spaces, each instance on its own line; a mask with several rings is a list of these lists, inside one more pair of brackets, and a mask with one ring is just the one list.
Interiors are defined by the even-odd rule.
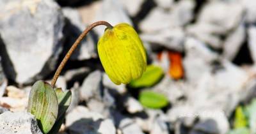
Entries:
[[42,80],[33,85],[28,102],[28,112],[35,115],[43,133],[57,133],[71,102],[71,92],[54,89]]

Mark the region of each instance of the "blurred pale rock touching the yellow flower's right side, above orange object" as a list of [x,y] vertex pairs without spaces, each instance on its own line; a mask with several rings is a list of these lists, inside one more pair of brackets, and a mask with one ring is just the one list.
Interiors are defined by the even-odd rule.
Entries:
[[156,33],[143,33],[141,40],[154,45],[170,48],[182,52],[184,50],[185,33],[179,27],[173,29],[163,29]]

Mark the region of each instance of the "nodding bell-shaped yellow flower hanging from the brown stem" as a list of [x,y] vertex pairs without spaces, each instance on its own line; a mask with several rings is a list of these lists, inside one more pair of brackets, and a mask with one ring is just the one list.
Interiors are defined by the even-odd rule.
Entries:
[[143,43],[129,24],[107,28],[98,42],[100,61],[115,84],[140,78],[147,67]]

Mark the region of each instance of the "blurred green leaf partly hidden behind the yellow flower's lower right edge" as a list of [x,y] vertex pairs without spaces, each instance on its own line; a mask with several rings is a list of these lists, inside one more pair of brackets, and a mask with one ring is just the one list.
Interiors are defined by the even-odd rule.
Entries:
[[133,88],[154,86],[161,80],[163,74],[164,72],[159,66],[148,65],[143,75],[136,80],[132,80],[129,86]]

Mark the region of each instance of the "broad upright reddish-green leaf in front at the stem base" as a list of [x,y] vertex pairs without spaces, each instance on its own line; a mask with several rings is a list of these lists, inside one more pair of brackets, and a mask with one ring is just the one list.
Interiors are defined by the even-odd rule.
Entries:
[[58,117],[58,100],[50,84],[35,82],[29,94],[28,112],[35,115],[43,133],[51,130]]

